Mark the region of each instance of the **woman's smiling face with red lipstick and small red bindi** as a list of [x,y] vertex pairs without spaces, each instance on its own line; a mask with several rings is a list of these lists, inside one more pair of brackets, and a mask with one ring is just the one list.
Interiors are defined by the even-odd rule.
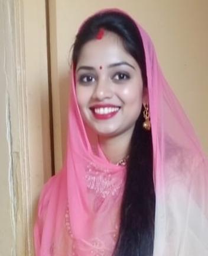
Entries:
[[76,67],[76,95],[83,120],[100,136],[134,130],[141,113],[141,70],[121,39],[105,31],[87,42]]

